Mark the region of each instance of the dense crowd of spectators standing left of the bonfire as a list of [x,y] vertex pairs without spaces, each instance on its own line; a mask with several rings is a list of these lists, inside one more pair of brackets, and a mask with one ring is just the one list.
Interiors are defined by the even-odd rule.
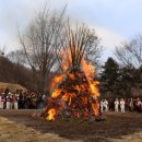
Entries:
[[45,104],[45,94],[38,91],[16,90],[14,93],[9,88],[0,91],[1,109],[37,109]]

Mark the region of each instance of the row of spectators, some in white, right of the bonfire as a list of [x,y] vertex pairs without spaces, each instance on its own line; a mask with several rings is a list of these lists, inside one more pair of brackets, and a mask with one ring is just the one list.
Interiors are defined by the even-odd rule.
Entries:
[[140,98],[116,98],[102,99],[100,111],[114,110],[116,113],[139,111],[142,113],[142,100]]

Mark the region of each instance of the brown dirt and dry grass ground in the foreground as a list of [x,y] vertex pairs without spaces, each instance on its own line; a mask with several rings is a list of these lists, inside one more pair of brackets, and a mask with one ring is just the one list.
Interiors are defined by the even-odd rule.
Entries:
[[46,121],[37,110],[0,110],[0,142],[142,142],[142,114],[106,113],[105,121]]

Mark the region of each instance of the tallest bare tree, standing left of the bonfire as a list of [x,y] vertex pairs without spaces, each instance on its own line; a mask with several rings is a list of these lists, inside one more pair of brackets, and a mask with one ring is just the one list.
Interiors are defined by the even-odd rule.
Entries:
[[35,78],[39,81],[39,88],[44,90],[46,80],[49,76],[56,58],[59,36],[66,7],[59,13],[45,8],[22,35],[19,32],[19,39],[24,49],[26,60],[31,66]]

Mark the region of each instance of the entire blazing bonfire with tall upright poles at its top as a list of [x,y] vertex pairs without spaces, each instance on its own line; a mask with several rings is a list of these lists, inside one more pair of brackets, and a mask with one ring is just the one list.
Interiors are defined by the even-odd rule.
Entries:
[[[98,81],[95,81],[95,70],[86,61],[85,51],[90,40],[90,31],[83,25],[78,32],[68,28],[63,51],[59,58],[62,74],[52,81],[52,94],[44,109],[47,120],[58,118],[78,118],[84,120],[97,119],[99,114]],[[90,43],[88,43],[90,42]]]

